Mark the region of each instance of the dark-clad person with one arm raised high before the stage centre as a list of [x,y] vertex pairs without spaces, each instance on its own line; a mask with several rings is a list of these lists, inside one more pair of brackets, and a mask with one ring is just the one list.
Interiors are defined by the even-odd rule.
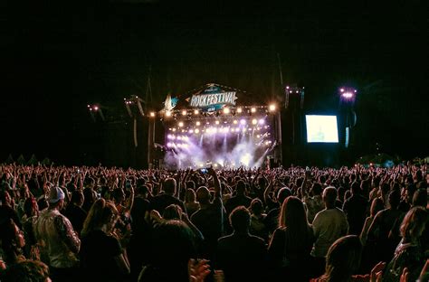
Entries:
[[215,186],[215,198],[210,201],[211,195],[207,187],[201,186],[196,190],[196,200],[200,209],[191,216],[191,222],[203,233],[205,238],[200,252],[205,258],[213,258],[217,240],[224,235],[224,204],[222,202],[222,187],[213,168],[208,169]]

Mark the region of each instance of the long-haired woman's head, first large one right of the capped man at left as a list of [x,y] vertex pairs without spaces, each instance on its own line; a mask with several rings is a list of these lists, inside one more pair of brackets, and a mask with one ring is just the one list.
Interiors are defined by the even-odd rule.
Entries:
[[81,236],[88,235],[92,230],[103,230],[110,233],[118,221],[118,217],[118,210],[113,202],[104,199],[95,201],[83,222]]

